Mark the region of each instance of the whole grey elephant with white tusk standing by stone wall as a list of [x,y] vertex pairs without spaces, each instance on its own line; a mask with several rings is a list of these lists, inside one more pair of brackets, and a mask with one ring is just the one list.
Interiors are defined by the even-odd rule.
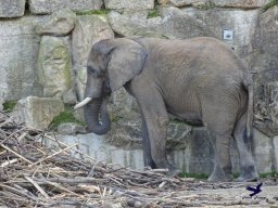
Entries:
[[251,150],[252,77],[243,62],[220,40],[198,37],[169,40],[147,37],[104,39],[92,46],[87,62],[84,107],[87,131],[111,128],[106,112],[112,92],[124,87],[142,118],[144,166],[178,169],[166,157],[169,115],[207,128],[215,152],[208,181],[231,181],[230,142],[236,141],[238,181],[258,179]]

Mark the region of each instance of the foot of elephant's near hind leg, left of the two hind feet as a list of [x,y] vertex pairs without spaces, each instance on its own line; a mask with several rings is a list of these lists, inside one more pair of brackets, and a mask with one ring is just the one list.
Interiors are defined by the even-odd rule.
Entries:
[[214,167],[213,173],[208,177],[210,182],[230,182],[232,181],[231,168],[220,169],[218,166]]

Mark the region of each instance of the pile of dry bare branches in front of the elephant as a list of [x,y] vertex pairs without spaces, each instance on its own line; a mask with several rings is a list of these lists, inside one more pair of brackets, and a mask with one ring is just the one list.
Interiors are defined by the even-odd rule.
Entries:
[[[55,145],[46,147],[46,141]],[[178,191],[229,187],[97,162],[77,144],[68,146],[0,112],[0,207],[200,207],[212,205],[210,196]]]

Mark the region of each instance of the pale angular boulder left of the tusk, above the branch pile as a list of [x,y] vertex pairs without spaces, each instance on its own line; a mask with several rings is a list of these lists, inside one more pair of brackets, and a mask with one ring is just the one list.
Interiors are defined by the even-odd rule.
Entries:
[[13,115],[26,127],[43,130],[64,110],[60,99],[27,96],[17,102]]

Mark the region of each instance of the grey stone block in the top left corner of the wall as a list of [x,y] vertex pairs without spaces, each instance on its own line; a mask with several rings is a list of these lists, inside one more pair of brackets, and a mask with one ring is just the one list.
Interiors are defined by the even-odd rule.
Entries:
[[24,15],[26,0],[0,0],[0,17],[18,17]]

